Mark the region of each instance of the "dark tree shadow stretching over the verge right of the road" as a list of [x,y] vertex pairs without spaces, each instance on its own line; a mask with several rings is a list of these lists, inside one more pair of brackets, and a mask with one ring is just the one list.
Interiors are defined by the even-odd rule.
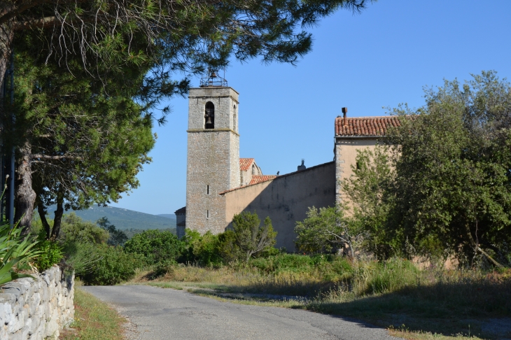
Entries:
[[483,339],[511,339],[509,278],[416,285],[363,297],[343,292],[340,288],[329,288],[314,298],[311,295],[286,294],[294,292],[293,289],[269,288],[261,294],[255,293],[265,291],[259,285],[225,287],[223,290],[194,292],[238,303],[307,309],[401,331],[430,332],[451,337],[463,335]]

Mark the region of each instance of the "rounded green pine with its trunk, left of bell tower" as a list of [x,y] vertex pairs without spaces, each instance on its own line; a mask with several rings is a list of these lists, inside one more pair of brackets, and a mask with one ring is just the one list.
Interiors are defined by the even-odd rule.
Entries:
[[57,204],[56,237],[64,210],[117,201],[139,185],[136,175],[155,143],[148,108],[134,100],[145,71],[134,63],[122,78],[93,81],[79,60],[60,69],[27,50],[16,55],[15,124],[4,134],[25,160],[17,169],[16,216],[25,214],[28,227],[35,199],[48,232],[45,209]]

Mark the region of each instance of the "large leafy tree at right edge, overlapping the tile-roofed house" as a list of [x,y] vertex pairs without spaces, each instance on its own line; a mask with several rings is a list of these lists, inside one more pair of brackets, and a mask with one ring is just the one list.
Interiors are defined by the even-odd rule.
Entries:
[[460,260],[482,254],[499,266],[511,244],[510,83],[494,71],[463,85],[445,80],[426,90],[425,106],[394,113],[404,118],[388,139],[402,245]]

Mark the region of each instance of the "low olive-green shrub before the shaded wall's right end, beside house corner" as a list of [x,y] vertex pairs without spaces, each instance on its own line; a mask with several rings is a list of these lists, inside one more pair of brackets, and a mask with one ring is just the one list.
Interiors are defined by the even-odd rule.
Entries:
[[337,253],[346,250],[354,258],[363,236],[362,229],[349,225],[341,207],[314,208],[307,211],[307,218],[297,221],[295,227],[298,250],[304,253]]

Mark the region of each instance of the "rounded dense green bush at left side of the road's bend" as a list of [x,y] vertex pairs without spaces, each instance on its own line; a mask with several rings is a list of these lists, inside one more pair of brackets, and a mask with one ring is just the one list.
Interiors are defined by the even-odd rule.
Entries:
[[101,260],[94,264],[94,271],[80,276],[86,285],[116,285],[133,278],[144,265],[143,256],[125,253],[122,247],[99,244],[96,251]]

